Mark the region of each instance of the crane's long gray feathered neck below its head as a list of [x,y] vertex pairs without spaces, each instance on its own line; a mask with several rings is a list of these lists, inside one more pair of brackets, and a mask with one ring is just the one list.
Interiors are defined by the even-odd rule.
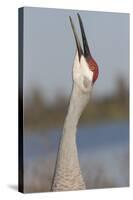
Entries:
[[76,130],[88,100],[89,94],[83,93],[74,84],[57,156],[53,191],[85,189],[78,159]]

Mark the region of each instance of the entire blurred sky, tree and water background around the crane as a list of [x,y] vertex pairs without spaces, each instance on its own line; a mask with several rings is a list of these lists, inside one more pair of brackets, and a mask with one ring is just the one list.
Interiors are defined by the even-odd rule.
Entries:
[[24,8],[24,191],[50,191],[72,89],[76,51],[69,15],[85,27],[99,78],[79,121],[87,188],[129,185],[129,15]]

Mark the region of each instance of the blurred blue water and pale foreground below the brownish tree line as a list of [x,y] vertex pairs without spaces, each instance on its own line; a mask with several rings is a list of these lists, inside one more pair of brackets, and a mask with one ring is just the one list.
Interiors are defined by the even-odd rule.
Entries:
[[[51,185],[61,133],[61,129],[24,133],[25,191],[33,192],[44,181]],[[128,121],[80,126],[77,145],[87,188],[107,187],[110,182],[115,187],[128,186]]]

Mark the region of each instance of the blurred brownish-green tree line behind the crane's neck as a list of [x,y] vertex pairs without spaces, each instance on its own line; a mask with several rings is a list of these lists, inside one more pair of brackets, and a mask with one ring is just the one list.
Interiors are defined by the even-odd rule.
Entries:
[[[67,113],[69,97],[60,93],[55,102],[49,105],[39,88],[24,99],[24,127],[52,128],[62,127]],[[116,81],[111,96],[93,98],[86,107],[80,123],[93,123],[105,120],[122,120],[129,117],[129,88],[123,78]]]

